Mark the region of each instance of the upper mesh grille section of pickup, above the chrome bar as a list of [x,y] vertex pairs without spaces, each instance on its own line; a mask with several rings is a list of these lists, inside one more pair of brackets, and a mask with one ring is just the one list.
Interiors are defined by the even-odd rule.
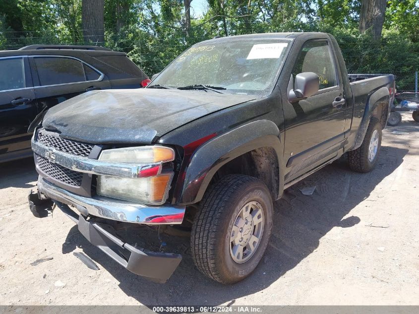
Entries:
[[93,144],[82,143],[70,139],[62,138],[57,135],[52,135],[50,132],[40,130],[38,133],[38,142],[48,146],[54,147],[60,152],[76,155],[80,157],[89,157],[93,149]]

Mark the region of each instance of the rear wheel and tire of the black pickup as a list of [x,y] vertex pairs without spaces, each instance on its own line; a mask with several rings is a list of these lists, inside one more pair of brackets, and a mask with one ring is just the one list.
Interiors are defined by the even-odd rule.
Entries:
[[[375,154],[373,154],[373,158],[369,155],[370,151],[370,141],[372,137],[377,136],[376,139],[376,150]],[[361,173],[370,172],[375,164],[377,163],[378,156],[380,153],[381,148],[381,125],[380,122],[375,119],[371,118],[368,128],[365,133],[365,137],[362,141],[361,146],[355,150],[351,150],[348,152],[348,162],[349,168],[351,170]]]

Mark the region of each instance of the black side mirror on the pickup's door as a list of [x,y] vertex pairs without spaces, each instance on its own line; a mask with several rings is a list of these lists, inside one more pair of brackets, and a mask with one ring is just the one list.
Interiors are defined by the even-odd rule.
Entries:
[[[292,79],[292,76],[291,76]],[[290,82],[292,83],[292,81]],[[290,101],[313,96],[320,87],[319,76],[313,72],[303,72],[296,75],[294,88],[289,88]]]

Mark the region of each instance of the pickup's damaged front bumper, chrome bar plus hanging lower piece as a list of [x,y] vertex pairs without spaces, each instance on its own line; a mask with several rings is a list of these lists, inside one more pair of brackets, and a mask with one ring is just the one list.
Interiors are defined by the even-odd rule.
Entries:
[[[88,198],[59,188],[39,177],[38,195],[51,198],[54,203],[77,225],[80,233],[94,246],[134,274],[156,282],[164,283],[178,267],[181,255],[174,253],[153,252],[138,249],[123,242],[115,233],[105,230],[94,219],[101,217],[121,222],[156,224],[180,224],[185,212],[184,207],[132,204],[126,201],[113,200],[107,197]],[[35,195],[30,194],[29,203],[33,212]],[[40,198],[41,199],[41,198]],[[31,205],[32,202],[32,205]],[[35,201],[36,202],[36,201]],[[80,214],[70,209],[74,206]],[[38,216],[39,217],[39,216]],[[94,217],[93,217],[94,218]],[[106,225],[109,226],[109,225]]]

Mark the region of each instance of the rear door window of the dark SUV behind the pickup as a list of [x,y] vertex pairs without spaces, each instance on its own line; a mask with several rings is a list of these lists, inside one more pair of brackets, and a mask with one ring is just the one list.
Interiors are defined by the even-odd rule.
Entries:
[[41,86],[85,82],[83,63],[71,58],[35,57]]

